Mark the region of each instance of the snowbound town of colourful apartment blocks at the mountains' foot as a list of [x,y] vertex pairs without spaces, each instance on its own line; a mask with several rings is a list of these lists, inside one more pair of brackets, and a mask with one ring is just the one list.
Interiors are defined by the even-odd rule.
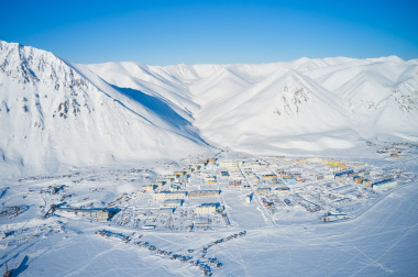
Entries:
[[[404,153],[376,154],[396,160]],[[21,178],[15,187],[0,191],[0,247],[67,234],[72,222],[86,222],[103,237],[132,242],[152,255],[189,263],[211,275],[224,265],[216,255],[206,256],[212,245],[263,228],[350,221],[415,178],[414,173],[364,160],[240,157],[228,152],[150,168]],[[10,224],[18,219],[31,224]],[[144,241],[158,232],[231,235],[176,253]]]

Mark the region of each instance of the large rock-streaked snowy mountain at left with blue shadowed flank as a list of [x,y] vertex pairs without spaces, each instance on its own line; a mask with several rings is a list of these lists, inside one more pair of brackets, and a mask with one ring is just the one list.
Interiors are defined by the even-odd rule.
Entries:
[[0,163],[55,170],[206,149],[187,119],[153,97],[140,100],[85,66],[0,42]]

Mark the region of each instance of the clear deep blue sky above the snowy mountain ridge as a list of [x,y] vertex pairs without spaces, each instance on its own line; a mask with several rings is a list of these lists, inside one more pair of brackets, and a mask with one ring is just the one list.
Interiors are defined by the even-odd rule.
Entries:
[[74,63],[418,58],[418,1],[0,0],[0,40]]

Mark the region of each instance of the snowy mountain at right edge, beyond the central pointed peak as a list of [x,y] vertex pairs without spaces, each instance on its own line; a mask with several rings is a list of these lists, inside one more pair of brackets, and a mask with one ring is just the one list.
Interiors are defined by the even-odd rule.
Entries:
[[306,73],[342,99],[362,136],[416,136],[418,67],[398,57],[354,60]]

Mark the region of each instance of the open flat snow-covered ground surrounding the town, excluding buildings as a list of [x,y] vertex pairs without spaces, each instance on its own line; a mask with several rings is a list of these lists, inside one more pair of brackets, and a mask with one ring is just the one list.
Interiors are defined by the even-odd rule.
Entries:
[[[399,158],[369,155],[366,162],[380,168],[399,168],[416,176],[418,153],[416,146],[411,146],[410,151],[407,156]],[[191,163],[191,159],[182,163]],[[319,220],[301,221],[299,217],[307,217],[306,212],[290,212],[286,215],[288,218],[278,218],[276,221],[266,220],[268,213],[261,211],[255,199],[250,204],[245,203],[250,188],[235,191],[222,188],[221,181],[217,186],[223,192],[218,198],[209,199],[210,202],[219,201],[226,206],[231,222],[229,226],[197,228],[193,232],[163,226],[142,230],[132,224],[117,224],[118,214],[109,222],[59,213],[41,219],[50,204],[63,201],[79,208],[105,207],[111,202],[121,209],[146,206],[147,201],[152,201],[146,200],[146,193],[134,197],[135,192],[158,174],[175,170],[175,166],[182,167],[182,163],[169,169],[167,163],[161,163],[153,169],[97,168],[64,176],[21,177],[20,180],[2,181],[1,209],[21,207],[22,212],[15,217],[0,218],[0,230],[8,233],[0,241],[1,273],[6,272],[7,263],[19,276],[199,276],[204,272],[190,261],[200,261],[211,267],[215,276],[418,274],[416,177],[375,196],[370,202],[363,202],[363,208],[356,210],[349,220],[328,223]],[[216,170],[213,166],[207,168],[206,173]],[[188,185],[194,186],[191,182]],[[41,193],[41,190],[55,185],[67,187],[56,195]],[[185,185],[186,188],[188,185]],[[121,198],[122,193],[125,197]],[[186,199],[183,209],[198,202],[196,199]],[[131,241],[122,242],[118,235],[101,236],[96,233],[100,230],[130,236]],[[246,231],[246,234],[211,244],[242,231]],[[135,245],[139,242],[190,261],[170,259],[167,255]],[[208,245],[210,247],[201,257],[202,247]],[[222,267],[217,268],[215,264],[208,263],[208,258],[216,258]]]

